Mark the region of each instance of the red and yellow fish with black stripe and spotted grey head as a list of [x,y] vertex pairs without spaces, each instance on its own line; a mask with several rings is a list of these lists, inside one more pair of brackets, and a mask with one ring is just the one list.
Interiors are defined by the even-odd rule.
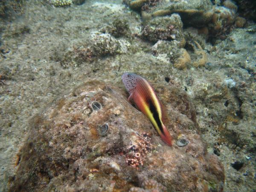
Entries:
[[163,123],[166,113],[153,87],[147,80],[135,73],[123,73],[122,81],[130,94],[128,101],[135,103],[137,108],[148,117],[162,140],[172,146],[173,137]]

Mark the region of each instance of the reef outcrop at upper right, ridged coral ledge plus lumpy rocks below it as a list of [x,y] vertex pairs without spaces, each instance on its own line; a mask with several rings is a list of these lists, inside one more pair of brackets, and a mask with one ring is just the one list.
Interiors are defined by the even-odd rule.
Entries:
[[[140,11],[143,19],[140,37],[155,43],[153,54],[169,59],[178,69],[204,67],[208,59],[203,49],[205,41],[215,44],[215,41],[225,39],[234,27],[244,27],[247,22],[243,17],[237,17],[238,7],[231,0],[215,2],[215,5],[210,0],[124,2],[131,9]],[[199,34],[204,35],[204,40]],[[162,50],[158,50],[159,47]]]

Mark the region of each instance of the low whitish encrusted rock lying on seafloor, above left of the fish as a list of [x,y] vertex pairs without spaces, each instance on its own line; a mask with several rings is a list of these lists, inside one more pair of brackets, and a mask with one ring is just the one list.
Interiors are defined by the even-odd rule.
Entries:
[[78,67],[84,62],[98,58],[122,54],[128,51],[130,43],[125,39],[116,39],[108,33],[93,32],[86,41],[70,47],[61,42],[52,53],[51,59],[61,64],[63,68]]

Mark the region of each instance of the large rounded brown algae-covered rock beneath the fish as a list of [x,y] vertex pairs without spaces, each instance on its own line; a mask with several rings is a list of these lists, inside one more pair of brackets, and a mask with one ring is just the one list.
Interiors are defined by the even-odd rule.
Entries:
[[222,191],[223,166],[207,154],[189,97],[154,87],[166,127],[187,145],[165,145],[124,89],[89,81],[32,118],[9,191]]

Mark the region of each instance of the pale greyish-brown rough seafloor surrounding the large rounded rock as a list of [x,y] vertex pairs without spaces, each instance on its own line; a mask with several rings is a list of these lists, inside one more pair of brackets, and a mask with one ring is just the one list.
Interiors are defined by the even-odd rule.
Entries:
[[207,61],[195,67],[192,62],[202,49],[197,52],[188,44],[192,61],[180,68],[166,54],[155,54],[155,42],[142,37],[140,13],[121,0],[86,0],[67,7],[28,0],[20,9],[0,21],[0,191],[7,191],[14,180],[17,154],[35,114],[85,81],[124,89],[124,72],[186,91],[208,153],[224,166],[224,191],[256,191],[253,21],[232,27],[224,38],[216,35],[214,42],[195,28],[184,29],[200,40],[201,57]]

